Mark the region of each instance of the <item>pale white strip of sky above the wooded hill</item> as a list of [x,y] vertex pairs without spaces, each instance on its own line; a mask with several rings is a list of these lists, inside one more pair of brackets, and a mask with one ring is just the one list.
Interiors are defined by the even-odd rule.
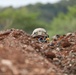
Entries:
[[28,4],[35,4],[37,2],[41,3],[56,3],[60,0],[0,0],[0,6],[13,6],[13,7],[20,7],[25,6]]

